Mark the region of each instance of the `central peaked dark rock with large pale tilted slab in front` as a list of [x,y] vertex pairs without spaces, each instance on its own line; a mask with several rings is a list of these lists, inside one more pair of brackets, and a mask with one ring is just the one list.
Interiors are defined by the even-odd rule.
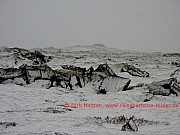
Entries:
[[73,65],[63,65],[62,68],[68,70],[69,73],[73,73],[73,71],[76,73],[76,75],[71,75],[76,76],[76,86],[82,88],[83,83],[85,85],[85,83],[91,81],[96,82],[98,94],[126,90],[130,84],[130,79],[117,76],[107,64],[100,64],[96,70],[94,70],[93,67],[90,67],[87,71],[85,68]]

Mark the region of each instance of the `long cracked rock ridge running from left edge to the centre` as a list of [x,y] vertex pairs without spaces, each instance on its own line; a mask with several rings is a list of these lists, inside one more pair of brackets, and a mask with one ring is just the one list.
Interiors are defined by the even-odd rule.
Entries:
[[53,70],[46,64],[41,65],[26,65],[23,64],[19,68],[0,69],[0,83],[11,79],[12,82],[15,78],[22,78],[26,84],[30,84],[36,80],[50,80],[49,87],[57,86],[62,88],[70,88],[78,86],[83,87],[82,72],[78,70],[60,69]]

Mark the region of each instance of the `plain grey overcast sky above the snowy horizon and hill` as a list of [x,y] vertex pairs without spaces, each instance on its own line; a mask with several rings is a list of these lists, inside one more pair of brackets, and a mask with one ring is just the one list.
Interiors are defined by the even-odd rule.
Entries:
[[0,46],[180,52],[180,0],[0,0]]

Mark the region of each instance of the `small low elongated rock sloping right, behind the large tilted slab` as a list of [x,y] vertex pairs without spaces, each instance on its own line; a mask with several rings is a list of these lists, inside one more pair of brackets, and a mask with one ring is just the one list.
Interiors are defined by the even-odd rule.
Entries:
[[128,72],[132,76],[138,77],[149,77],[149,73],[146,71],[142,71],[139,68],[136,68],[133,65],[129,65],[127,63],[116,64],[113,66],[114,68],[118,68],[120,72]]

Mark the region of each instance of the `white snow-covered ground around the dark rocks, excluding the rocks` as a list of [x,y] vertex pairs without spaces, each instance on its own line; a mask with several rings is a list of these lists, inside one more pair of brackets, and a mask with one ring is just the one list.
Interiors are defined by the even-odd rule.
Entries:
[[[48,50],[48,49],[47,49]],[[138,83],[149,84],[170,78],[170,75],[179,69],[171,62],[179,61],[179,57],[163,57],[162,53],[144,53],[121,51],[113,48],[70,47],[63,48],[61,53],[48,55],[53,59],[48,65],[58,69],[61,65],[76,65],[96,68],[99,64],[107,63],[119,76],[130,78],[130,86]],[[1,52],[0,65],[17,66],[12,55]],[[21,65],[22,61],[19,62]],[[28,63],[28,61],[26,61]],[[150,77],[134,77],[128,73],[121,73],[115,64],[128,63],[141,70],[149,72]],[[12,83],[0,84],[0,122],[15,122],[16,126],[5,127],[0,125],[2,135],[22,134],[64,134],[64,135],[179,135],[180,109],[179,108],[108,108],[106,104],[144,103],[145,87],[138,87],[129,91],[108,92],[105,95],[96,94],[91,84],[74,90],[53,87],[46,89],[48,81],[36,81],[26,86]],[[79,103],[82,107],[68,107],[64,104]],[[103,108],[85,108],[84,103],[102,104]],[[179,97],[155,96],[146,103],[180,104]],[[143,125],[138,132],[121,131],[122,124],[99,125],[89,117],[115,117],[134,115],[152,121],[169,122],[168,125]]]

